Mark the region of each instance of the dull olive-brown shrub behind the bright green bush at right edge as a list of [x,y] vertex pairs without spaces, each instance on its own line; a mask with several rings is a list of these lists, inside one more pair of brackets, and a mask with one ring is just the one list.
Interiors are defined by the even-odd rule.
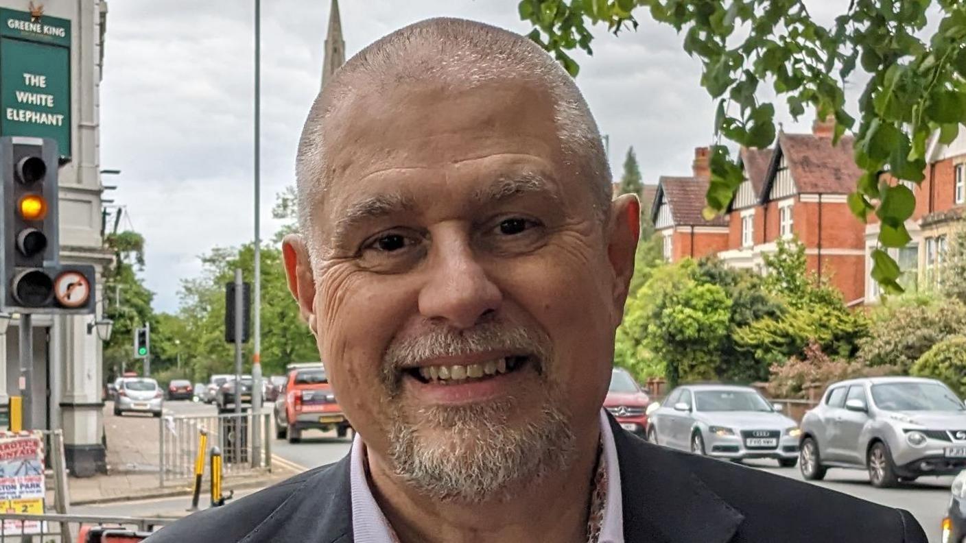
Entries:
[[963,330],[966,305],[958,300],[894,300],[872,313],[868,337],[859,343],[859,360],[870,366],[891,364],[909,371],[933,345],[962,335]]

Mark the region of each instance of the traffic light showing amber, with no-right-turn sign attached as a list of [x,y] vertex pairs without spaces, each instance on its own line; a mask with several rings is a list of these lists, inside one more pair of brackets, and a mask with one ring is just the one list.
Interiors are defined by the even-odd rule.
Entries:
[[21,313],[91,313],[93,266],[60,265],[57,142],[0,137],[0,301]]

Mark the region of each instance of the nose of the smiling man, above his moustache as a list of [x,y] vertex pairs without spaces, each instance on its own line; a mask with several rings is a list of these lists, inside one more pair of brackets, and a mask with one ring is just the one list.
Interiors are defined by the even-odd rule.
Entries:
[[499,308],[502,294],[468,243],[436,243],[428,264],[429,278],[419,293],[423,317],[469,329]]

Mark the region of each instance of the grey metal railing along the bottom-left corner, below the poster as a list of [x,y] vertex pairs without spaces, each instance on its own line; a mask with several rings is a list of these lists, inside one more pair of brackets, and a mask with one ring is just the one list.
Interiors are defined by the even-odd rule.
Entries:
[[169,518],[0,513],[0,541],[11,543],[24,541],[31,543],[73,543],[82,527],[124,529],[147,534],[176,520]]

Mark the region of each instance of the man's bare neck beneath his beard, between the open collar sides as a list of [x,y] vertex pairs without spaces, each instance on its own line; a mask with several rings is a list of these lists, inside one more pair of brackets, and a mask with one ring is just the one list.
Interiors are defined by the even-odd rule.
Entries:
[[550,472],[536,484],[522,481],[510,500],[440,502],[415,492],[367,451],[369,484],[401,543],[489,541],[586,541],[590,489],[600,432],[577,443],[570,469]]

